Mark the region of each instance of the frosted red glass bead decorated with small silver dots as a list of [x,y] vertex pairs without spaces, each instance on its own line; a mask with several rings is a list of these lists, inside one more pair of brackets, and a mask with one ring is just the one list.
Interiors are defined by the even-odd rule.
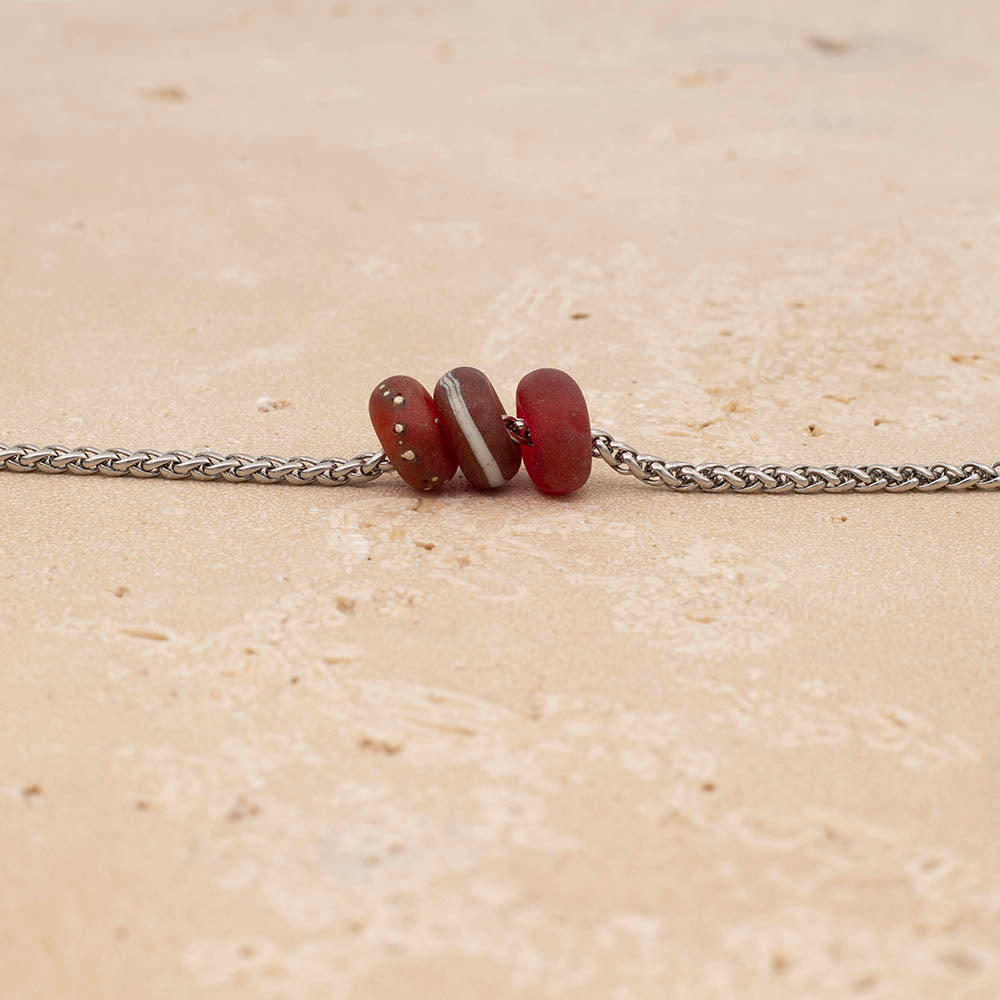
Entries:
[[417,490],[436,490],[458,463],[445,443],[430,393],[409,375],[379,382],[368,399],[379,443],[400,477]]

